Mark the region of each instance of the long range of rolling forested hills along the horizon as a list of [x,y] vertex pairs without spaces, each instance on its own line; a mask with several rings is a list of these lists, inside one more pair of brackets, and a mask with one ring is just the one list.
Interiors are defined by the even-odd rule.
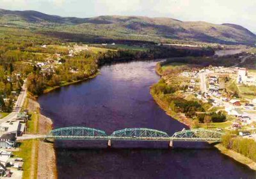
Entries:
[[35,11],[0,9],[0,25],[44,31],[61,31],[121,40],[154,42],[215,42],[255,44],[256,35],[236,24],[182,22],[171,18],[99,16],[93,18],[60,17]]

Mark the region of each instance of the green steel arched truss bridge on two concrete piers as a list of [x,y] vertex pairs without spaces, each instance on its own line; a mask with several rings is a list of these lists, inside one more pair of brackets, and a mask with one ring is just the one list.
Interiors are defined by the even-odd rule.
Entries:
[[111,135],[103,130],[89,127],[63,127],[51,130],[47,135],[24,135],[17,137],[17,140],[27,139],[57,139],[57,140],[102,140],[108,141],[169,141],[172,146],[173,141],[212,141],[220,142],[223,133],[204,128],[195,128],[180,132],[175,132],[169,136],[166,132],[151,128],[124,128],[116,130]]

